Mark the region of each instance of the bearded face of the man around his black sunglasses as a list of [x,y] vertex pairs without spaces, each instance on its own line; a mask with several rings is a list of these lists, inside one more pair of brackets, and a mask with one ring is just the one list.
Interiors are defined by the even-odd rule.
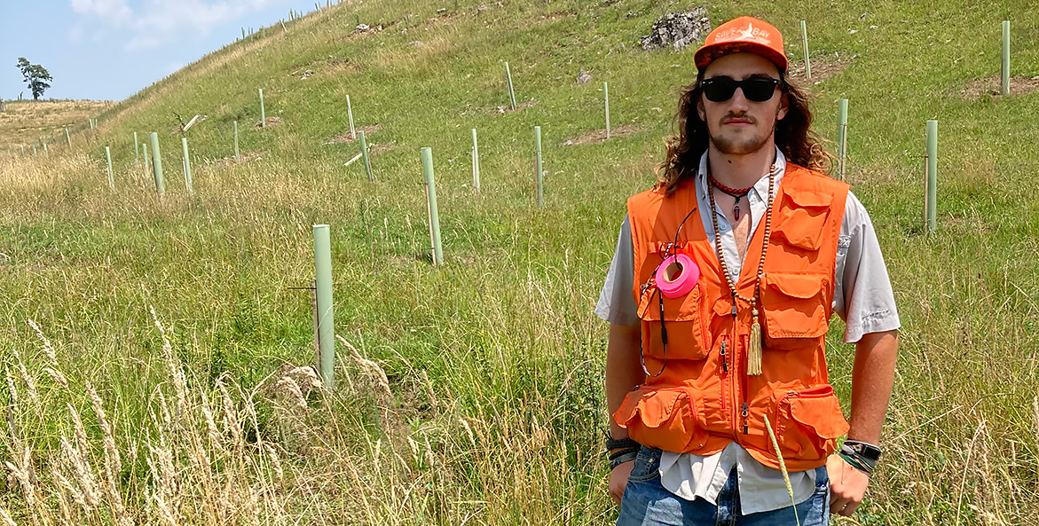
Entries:
[[[771,60],[753,53],[732,53],[708,64],[703,79],[724,78],[745,80],[755,77],[779,78],[779,70]],[[712,102],[700,95],[696,111],[707,123],[711,142],[724,154],[742,155],[756,152],[770,143],[776,121],[787,114],[787,96],[776,88],[764,102],[748,100],[743,88],[737,88],[725,101]]]

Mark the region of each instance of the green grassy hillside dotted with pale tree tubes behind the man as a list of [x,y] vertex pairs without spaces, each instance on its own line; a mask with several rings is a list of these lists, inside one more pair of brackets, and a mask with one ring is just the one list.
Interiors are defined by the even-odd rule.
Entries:
[[[692,49],[643,52],[638,36],[686,7],[342,3],[108,108],[96,115],[98,142],[74,137],[48,159],[0,155],[0,461],[11,473],[0,510],[16,524],[612,522],[607,327],[591,311],[624,198],[652,184],[695,74]],[[809,85],[824,136],[835,135],[837,100],[850,100],[847,179],[877,228],[903,332],[884,466],[844,523],[1039,524],[1039,94],[1024,93],[1027,80],[1010,97],[961,94],[998,75],[1003,20],[1012,73],[1039,75],[1030,4],[708,8],[713,25],[771,21],[795,67],[807,21],[812,69],[829,75]],[[505,61],[525,103],[515,112],[499,109],[509,105]],[[592,81],[579,85],[582,69]],[[614,128],[631,133],[564,146],[603,129],[604,81]],[[262,129],[258,88],[277,117]],[[375,183],[359,161],[344,167],[359,152],[340,140],[347,95]],[[195,114],[189,196],[179,130]],[[929,119],[941,148],[932,236],[922,230]],[[160,137],[164,199],[135,161],[133,132],[143,141],[149,131]],[[423,147],[436,174],[439,268]],[[346,342],[339,387],[325,394],[299,372],[285,379],[314,361],[299,289],[314,274],[314,223],[331,226]],[[854,349],[840,320],[831,328],[847,410]]]

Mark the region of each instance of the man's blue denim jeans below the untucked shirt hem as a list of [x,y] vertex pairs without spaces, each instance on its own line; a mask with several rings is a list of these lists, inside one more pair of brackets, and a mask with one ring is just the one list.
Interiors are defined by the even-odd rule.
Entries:
[[[718,505],[703,499],[683,499],[660,483],[659,449],[643,447],[635,459],[620,502],[617,526],[785,526],[796,525],[794,508],[741,515],[736,469],[728,476]],[[830,484],[826,466],[816,471],[816,493],[797,505],[801,526],[825,526],[829,521]]]

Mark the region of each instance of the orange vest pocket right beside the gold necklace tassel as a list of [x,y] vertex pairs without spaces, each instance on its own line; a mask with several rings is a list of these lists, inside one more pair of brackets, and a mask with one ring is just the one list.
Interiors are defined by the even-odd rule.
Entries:
[[765,346],[792,349],[808,345],[829,330],[829,309],[824,294],[828,278],[821,273],[765,274],[762,306],[765,310]]

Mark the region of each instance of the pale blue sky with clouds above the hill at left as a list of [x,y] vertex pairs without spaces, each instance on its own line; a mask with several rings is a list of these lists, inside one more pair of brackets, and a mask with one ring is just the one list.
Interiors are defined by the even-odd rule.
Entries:
[[0,98],[32,98],[24,56],[54,77],[44,98],[123,100],[315,1],[0,0]]

